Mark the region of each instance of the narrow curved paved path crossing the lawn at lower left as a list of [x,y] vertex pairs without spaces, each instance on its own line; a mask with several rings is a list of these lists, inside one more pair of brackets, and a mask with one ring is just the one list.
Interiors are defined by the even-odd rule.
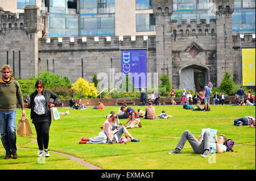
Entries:
[[[35,138],[31,138],[31,139],[32,139],[31,142],[28,142],[27,144],[24,144],[24,145],[32,144],[32,143],[37,141]],[[17,146],[17,148],[19,148],[20,146],[23,146],[23,145],[19,145],[19,146]],[[75,157],[75,156],[70,155],[70,154],[60,153],[60,152],[57,152],[57,151],[50,151],[50,152],[61,154],[61,155],[65,156],[65,157],[68,157],[72,161],[80,163],[81,165],[84,165],[84,166],[88,167],[89,169],[92,169],[92,170],[103,170],[101,167],[92,165],[91,163],[88,163],[88,162],[84,161],[84,159],[81,159],[79,157]]]

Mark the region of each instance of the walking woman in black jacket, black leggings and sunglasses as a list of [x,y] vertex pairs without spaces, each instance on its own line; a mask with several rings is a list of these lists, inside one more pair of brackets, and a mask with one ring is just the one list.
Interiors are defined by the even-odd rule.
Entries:
[[[35,92],[30,95],[30,117],[32,123],[35,124],[39,155],[38,157],[49,157],[48,144],[49,144],[49,127],[51,125],[51,107],[57,104],[59,96],[52,91],[44,90],[44,83],[38,80],[35,83]],[[53,103],[49,103],[50,99]],[[43,150],[44,149],[44,150]]]

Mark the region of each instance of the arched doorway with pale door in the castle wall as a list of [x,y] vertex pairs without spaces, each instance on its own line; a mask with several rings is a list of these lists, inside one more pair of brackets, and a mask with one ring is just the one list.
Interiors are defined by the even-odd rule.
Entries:
[[205,65],[192,64],[179,70],[179,89],[203,91],[205,83],[208,83],[209,68]]

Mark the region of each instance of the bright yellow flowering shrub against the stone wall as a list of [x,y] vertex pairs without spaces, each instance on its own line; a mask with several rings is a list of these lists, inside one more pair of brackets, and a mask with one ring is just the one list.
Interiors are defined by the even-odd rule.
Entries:
[[94,83],[89,83],[84,78],[79,78],[75,83],[72,83],[72,90],[80,92],[86,96],[96,96],[98,94],[98,90],[95,87]]

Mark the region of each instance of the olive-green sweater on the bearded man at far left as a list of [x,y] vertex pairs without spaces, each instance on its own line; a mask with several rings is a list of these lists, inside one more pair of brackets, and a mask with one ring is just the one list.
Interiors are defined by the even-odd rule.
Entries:
[[0,79],[0,111],[16,110],[16,98],[22,109],[24,109],[24,102],[22,91],[19,83],[10,77],[10,82],[5,83],[3,78]]

